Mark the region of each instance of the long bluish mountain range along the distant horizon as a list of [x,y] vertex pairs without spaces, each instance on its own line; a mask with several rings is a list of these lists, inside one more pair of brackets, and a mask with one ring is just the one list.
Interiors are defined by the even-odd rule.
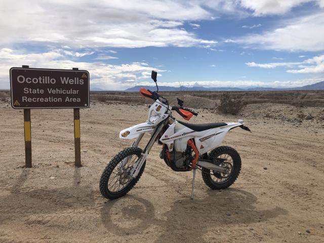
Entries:
[[[140,88],[145,88],[147,90],[156,91],[155,86],[134,86],[125,91],[128,92],[137,92]],[[324,81],[313,84],[313,85],[305,85],[302,87],[296,88],[270,88],[270,87],[255,87],[255,88],[233,88],[233,87],[212,87],[206,88],[203,86],[193,86],[193,87],[182,87],[183,91],[285,91],[285,90],[324,90]],[[172,86],[159,86],[158,91],[180,91],[180,87],[172,87]]]

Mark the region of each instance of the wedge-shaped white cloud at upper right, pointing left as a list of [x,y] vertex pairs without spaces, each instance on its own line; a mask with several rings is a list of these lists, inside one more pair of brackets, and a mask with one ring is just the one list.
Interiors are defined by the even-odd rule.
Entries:
[[[285,1],[282,1],[285,2]],[[290,19],[284,27],[235,39],[248,47],[279,51],[324,50],[324,12]]]

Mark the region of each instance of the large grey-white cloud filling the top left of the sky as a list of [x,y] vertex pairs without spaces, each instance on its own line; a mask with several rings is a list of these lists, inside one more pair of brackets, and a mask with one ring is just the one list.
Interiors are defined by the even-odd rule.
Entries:
[[0,46],[36,43],[82,49],[215,44],[179,28],[184,21],[210,19],[212,14],[203,5],[203,2],[172,0],[85,0],[78,4],[76,1],[3,0]]

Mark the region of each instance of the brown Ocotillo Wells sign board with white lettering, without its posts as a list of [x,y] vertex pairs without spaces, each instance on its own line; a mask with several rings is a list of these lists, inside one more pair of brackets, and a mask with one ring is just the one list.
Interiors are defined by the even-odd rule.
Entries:
[[89,107],[86,70],[12,67],[10,86],[15,109]]

